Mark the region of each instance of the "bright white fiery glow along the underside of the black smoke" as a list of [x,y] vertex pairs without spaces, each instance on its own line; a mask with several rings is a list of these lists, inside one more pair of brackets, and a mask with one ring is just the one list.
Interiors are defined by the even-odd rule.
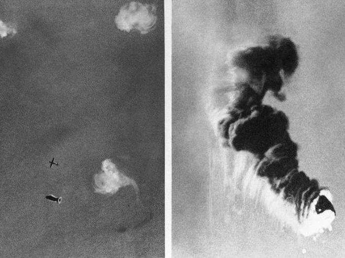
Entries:
[[332,201],[332,195],[328,190],[321,190],[310,207],[306,208],[310,210],[309,216],[298,221],[295,205],[285,200],[283,192],[280,194],[274,192],[268,179],[257,175],[257,162],[258,160],[250,152],[238,151],[235,154],[233,172],[229,175],[232,182],[231,195],[241,195],[243,204],[250,204],[253,208],[257,208],[261,203],[282,228],[291,228],[298,235],[316,237],[325,229],[332,230],[334,213],[326,210],[316,214],[315,211],[320,196],[324,195]]

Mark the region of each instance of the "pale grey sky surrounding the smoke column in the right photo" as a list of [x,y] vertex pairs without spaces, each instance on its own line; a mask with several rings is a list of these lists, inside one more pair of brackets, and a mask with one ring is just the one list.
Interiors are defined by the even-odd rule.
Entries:
[[[344,256],[344,7],[340,0],[173,0],[175,257]],[[298,44],[300,65],[284,89],[286,101],[268,96],[265,103],[289,117],[301,170],[334,195],[333,231],[316,242],[280,231],[254,210],[223,223],[222,174],[209,170],[215,139],[204,99],[212,64],[232,46],[269,33]]]

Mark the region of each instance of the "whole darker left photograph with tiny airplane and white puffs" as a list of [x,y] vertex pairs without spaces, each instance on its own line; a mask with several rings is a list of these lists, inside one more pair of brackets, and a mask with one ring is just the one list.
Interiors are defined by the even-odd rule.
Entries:
[[4,0],[0,256],[164,257],[163,1]]

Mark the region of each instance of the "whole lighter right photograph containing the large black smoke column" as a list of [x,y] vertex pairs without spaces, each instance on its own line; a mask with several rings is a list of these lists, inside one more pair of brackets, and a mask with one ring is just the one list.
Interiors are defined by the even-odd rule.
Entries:
[[172,3],[172,256],[343,257],[344,2]]

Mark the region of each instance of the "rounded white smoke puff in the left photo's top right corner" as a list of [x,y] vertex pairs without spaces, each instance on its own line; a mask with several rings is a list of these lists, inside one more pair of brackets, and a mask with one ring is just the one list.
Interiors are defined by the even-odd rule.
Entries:
[[141,34],[146,34],[154,28],[157,21],[156,6],[132,1],[120,8],[115,17],[118,29],[130,32],[137,29]]

